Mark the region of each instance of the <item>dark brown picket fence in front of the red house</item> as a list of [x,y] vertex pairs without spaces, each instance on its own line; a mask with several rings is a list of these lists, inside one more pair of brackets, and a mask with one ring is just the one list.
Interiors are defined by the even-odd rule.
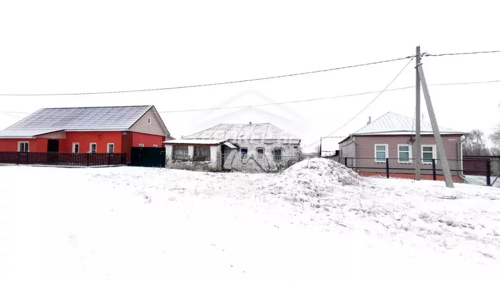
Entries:
[[125,165],[126,153],[0,151],[0,164],[87,166],[87,167]]

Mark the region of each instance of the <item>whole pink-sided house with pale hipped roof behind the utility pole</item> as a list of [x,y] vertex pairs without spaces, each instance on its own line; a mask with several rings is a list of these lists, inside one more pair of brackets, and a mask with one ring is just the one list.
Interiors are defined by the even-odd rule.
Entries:
[[[363,175],[385,175],[388,167],[390,176],[413,178],[414,158],[419,151],[422,177],[432,178],[434,162],[437,178],[440,178],[442,171],[431,125],[421,123],[420,147],[414,145],[414,128],[413,118],[387,112],[340,141],[340,157]],[[466,133],[446,127],[439,127],[439,132],[453,178],[462,181],[462,142]]]

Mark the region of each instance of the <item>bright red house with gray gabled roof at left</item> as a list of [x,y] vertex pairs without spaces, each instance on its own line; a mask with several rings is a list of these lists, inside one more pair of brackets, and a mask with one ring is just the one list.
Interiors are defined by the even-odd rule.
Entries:
[[172,139],[153,105],[42,108],[0,131],[0,151],[111,153]]

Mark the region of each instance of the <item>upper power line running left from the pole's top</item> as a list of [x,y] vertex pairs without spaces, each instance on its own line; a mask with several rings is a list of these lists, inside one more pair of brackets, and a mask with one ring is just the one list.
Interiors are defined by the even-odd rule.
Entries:
[[79,92],[79,93],[40,93],[40,94],[34,94],[34,93],[28,93],[28,94],[1,93],[0,95],[8,95],[8,96],[85,95],[85,94],[106,94],[106,93],[124,93],[124,92],[157,91],[157,90],[171,90],[171,89],[182,89],[182,88],[194,88],[194,87],[204,87],[204,86],[234,84],[234,83],[242,83],[242,82],[250,82],[250,81],[259,81],[259,80],[267,80],[267,79],[291,77],[291,76],[298,76],[298,75],[305,75],[305,74],[312,74],[312,73],[319,73],[319,72],[327,72],[327,71],[332,71],[332,70],[339,70],[339,69],[345,69],[345,68],[352,68],[352,67],[358,67],[358,66],[366,66],[366,65],[378,64],[378,63],[384,63],[384,62],[391,62],[391,61],[396,61],[396,60],[401,60],[401,59],[406,59],[406,58],[412,58],[412,57],[414,57],[414,55],[405,56],[405,57],[399,57],[399,58],[393,58],[393,59],[387,59],[387,60],[380,60],[380,61],[375,61],[375,62],[367,62],[367,63],[361,63],[361,64],[341,66],[341,67],[335,67],[335,68],[329,68],[329,69],[321,69],[321,70],[314,70],[314,71],[299,72],[299,73],[293,73],[293,74],[284,74],[284,75],[268,76],[268,77],[253,78],[253,79],[244,79],[244,80],[236,80],[236,81],[229,81],[229,82],[196,84],[196,85],[177,86],[177,87],[138,89],[138,90],[120,90],[120,91]]

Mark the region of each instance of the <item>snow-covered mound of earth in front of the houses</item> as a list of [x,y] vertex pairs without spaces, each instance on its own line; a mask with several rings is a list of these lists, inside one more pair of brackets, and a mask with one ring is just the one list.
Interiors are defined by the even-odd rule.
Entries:
[[310,158],[281,172],[268,188],[271,194],[292,203],[328,210],[335,206],[338,193],[345,193],[346,189],[358,192],[369,184],[368,180],[336,161]]

